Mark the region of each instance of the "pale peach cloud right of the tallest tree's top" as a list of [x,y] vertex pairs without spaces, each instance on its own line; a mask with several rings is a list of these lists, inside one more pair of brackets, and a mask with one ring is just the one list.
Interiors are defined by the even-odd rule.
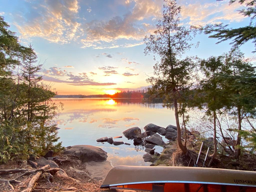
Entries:
[[245,17],[237,12],[242,6],[238,2],[202,3],[194,1],[181,6],[181,20],[189,19],[189,25],[205,25],[219,22],[241,22]]

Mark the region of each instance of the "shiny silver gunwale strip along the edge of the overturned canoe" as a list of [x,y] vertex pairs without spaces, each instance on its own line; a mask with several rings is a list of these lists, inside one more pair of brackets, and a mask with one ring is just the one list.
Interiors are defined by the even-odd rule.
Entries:
[[116,187],[116,186],[132,185],[132,184],[148,184],[148,183],[191,183],[191,184],[233,185],[233,186],[256,187],[256,185],[235,184],[235,183],[214,183],[214,182],[198,182],[198,181],[145,181],[145,182],[132,182],[132,183],[102,185],[100,188],[114,188],[115,187],[115,188],[120,189],[119,187]]

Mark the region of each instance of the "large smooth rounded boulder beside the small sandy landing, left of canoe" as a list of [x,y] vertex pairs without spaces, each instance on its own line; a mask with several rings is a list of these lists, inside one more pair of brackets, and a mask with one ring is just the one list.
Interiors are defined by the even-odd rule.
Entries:
[[106,161],[107,152],[99,147],[91,145],[74,145],[70,149],[63,152],[65,155],[77,156],[82,162],[86,161]]

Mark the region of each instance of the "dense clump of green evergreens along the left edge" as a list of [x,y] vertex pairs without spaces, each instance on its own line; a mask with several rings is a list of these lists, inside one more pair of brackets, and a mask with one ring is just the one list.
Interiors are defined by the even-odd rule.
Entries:
[[55,93],[40,83],[42,65],[32,45],[20,46],[0,17],[0,162],[62,149],[54,122]]

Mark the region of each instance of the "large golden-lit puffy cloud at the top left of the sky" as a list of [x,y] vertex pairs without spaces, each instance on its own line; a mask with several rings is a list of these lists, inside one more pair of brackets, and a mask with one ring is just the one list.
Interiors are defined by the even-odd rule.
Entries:
[[26,2],[27,12],[14,14],[14,25],[23,38],[42,37],[51,42],[68,43],[79,37],[77,0]]

